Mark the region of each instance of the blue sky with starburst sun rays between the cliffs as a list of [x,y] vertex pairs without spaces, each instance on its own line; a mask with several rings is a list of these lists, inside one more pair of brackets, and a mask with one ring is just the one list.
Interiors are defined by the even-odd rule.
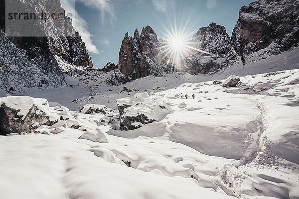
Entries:
[[[68,11],[70,8],[63,3]],[[94,67],[109,61],[118,63],[121,42],[126,32],[150,25],[158,37],[177,24],[186,25],[189,33],[215,22],[224,25],[231,36],[242,5],[252,0],[76,0],[76,30],[81,34]],[[72,11],[74,12],[74,11]]]

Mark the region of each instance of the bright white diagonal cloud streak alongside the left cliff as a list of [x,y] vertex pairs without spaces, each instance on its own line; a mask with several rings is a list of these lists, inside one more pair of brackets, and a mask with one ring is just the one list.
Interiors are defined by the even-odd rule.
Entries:
[[62,7],[65,9],[65,13],[71,13],[73,19],[73,26],[80,33],[82,41],[90,53],[99,54],[96,45],[93,44],[92,34],[88,31],[88,23],[82,18],[75,10],[74,0],[61,0]]

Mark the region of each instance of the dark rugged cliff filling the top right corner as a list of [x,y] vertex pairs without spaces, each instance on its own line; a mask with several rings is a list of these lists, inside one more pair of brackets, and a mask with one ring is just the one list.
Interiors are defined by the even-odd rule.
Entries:
[[257,0],[242,6],[232,41],[239,55],[246,57],[277,45],[278,51],[289,50],[299,42],[298,0]]

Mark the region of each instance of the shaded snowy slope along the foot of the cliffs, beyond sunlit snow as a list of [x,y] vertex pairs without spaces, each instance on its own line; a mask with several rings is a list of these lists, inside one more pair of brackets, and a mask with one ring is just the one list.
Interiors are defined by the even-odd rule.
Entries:
[[[272,55],[271,48],[270,46],[253,53],[251,59],[244,66],[243,64],[231,66],[212,76],[171,73],[163,74],[161,77],[147,76],[124,85],[111,86],[106,83],[106,80],[111,78],[113,71],[104,73],[96,70],[87,70],[83,75],[70,73],[66,77],[67,83],[72,85],[72,87],[32,91],[17,95],[46,98],[48,101],[59,102],[72,110],[79,110],[87,103],[103,104],[116,109],[116,99],[129,97],[129,95],[134,96],[138,92],[148,91],[156,93],[177,87],[186,82],[199,83],[215,79],[221,80],[232,74],[246,76],[299,68],[299,48],[294,48],[279,55]],[[124,87],[131,89],[132,92],[121,93]],[[1,94],[0,92],[0,95],[5,96],[6,94]]]

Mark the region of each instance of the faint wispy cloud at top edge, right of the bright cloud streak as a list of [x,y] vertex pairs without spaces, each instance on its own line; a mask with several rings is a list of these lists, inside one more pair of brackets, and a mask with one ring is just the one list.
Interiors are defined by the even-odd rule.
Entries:
[[116,20],[115,7],[113,0],[78,0],[85,6],[97,9],[101,14],[102,24]]

